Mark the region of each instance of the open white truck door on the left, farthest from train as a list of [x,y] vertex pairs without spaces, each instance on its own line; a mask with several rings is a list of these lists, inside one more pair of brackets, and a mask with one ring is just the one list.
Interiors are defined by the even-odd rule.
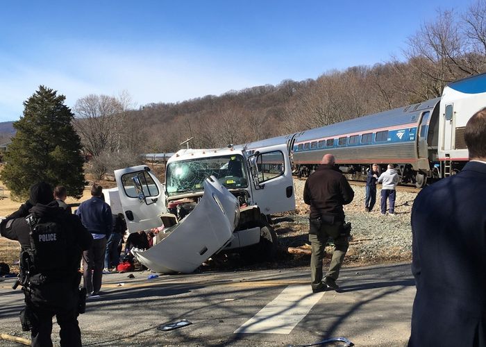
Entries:
[[115,179],[128,231],[161,226],[159,216],[166,212],[165,192],[149,167],[140,165],[115,170]]

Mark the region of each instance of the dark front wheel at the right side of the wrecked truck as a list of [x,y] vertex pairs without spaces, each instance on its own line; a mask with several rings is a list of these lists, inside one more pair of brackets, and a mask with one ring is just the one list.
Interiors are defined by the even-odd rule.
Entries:
[[260,227],[260,242],[242,249],[242,257],[249,262],[268,262],[273,260],[278,248],[278,237],[271,226]]

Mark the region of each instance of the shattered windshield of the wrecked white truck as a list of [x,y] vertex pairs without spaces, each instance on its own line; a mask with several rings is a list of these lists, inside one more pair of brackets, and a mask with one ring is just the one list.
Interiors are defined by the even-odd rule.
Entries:
[[242,155],[223,155],[171,162],[167,167],[166,186],[168,196],[203,190],[203,182],[215,176],[228,189],[248,186]]

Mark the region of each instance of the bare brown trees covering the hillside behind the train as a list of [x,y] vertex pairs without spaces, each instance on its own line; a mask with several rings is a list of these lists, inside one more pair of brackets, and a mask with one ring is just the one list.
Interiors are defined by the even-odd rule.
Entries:
[[[447,83],[486,70],[486,0],[462,13],[437,10],[435,19],[408,37],[403,57],[331,70],[305,81],[285,80],[137,109],[128,92],[87,95],[69,110],[70,125],[90,159],[87,168],[101,178],[112,169],[139,163],[141,153],[177,151],[190,137],[193,148],[217,148],[433,99]],[[31,101],[26,103],[24,117],[15,122],[17,136],[31,115]],[[0,177],[6,182],[6,174]]]

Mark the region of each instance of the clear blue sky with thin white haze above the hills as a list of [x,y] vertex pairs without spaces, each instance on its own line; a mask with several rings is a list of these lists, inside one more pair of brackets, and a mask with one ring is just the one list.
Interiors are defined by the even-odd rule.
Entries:
[[402,58],[437,10],[471,0],[3,1],[0,121],[45,85],[132,107],[220,95]]

